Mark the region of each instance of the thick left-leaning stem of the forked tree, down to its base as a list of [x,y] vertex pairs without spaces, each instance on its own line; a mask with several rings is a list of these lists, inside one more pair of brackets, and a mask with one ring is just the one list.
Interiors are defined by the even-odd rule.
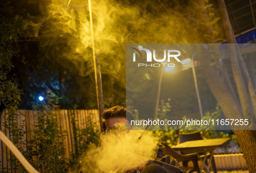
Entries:
[[[200,60],[204,60],[205,56],[202,56]],[[224,112],[226,118],[243,119],[243,112],[234,98],[233,92],[229,90],[228,85],[225,84],[227,77],[221,76],[221,71],[225,70],[225,67],[220,70],[220,73],[213,66],[202,63],[203,72],[206,78],[207,85],[214,94],[214,97],[220,104],[221,109]],[[221,66],[221,65],[220,65]],[[235,116],[234,116],[235,115]],[[233,128],[233,127],[232,127]],[[243,157],[246,160],[248,170],[250,173],[256,173],[256,131],[255,130],[234,130],[237,136],[238,142],[243,152]]]

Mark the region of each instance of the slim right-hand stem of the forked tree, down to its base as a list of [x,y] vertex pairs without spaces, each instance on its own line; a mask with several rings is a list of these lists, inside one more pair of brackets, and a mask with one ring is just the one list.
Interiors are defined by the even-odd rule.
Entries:
[[[252,107],[250,104],[250,98],[255,104],[255,92],[252,91],[252,82],[248,71],[246,69],[245,63],[241,56],[239,49],[234,45],[236,40],[234,37],[233,29],[228,18],[227,9],[224,3],[224,0],[217,0],[220,8],[220,14],[224,24],[225,35],[227,43],[233,43],[230,45],[230,52],[233,53],[230,55],[230,61],[233,71],[233,76],[237,85],[237,90],[240,97],[240,104],[243,110],[243,118],[253,119]],[[243,71],[243,72],[242,72]],[[246,86],[247,84],[247,86]],[[250,94],[249,94],[250,93]],[[226,115],[226,114],[225,114]],[[237,136],[240,147],[243,151],[243,156],[246,160],[248,170],[250,173],[256,173],[256,131],[255,130],[234,130],[235,135]]]

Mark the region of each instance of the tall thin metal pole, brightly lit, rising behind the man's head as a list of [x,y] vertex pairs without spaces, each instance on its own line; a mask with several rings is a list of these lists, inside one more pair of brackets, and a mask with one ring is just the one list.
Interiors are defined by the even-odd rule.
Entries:
[[[99,117],[101,119],[102,113],[104,111],[104,103],[103,103],[101,75],[100,75],[100,60],[95,55],[92,13],[91,13],[91,0],[88,0],[88,3],[89,3],[89,13],[90,13],[90,23],[91,23],[91,40],[92,40],[92,53],[93,53],[93,61],[94,61],[94,75],[95,75],[96,92],[97,92],[97,104],[98,104]],[[103,132],[103,129],[101,126],[100,126],[100,130],[101,132]]]

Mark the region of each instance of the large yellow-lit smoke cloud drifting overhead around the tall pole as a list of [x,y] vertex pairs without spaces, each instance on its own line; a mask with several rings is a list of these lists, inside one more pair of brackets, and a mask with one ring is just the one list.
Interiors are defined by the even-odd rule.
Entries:
[[[201,43],[198,18],[203,7],[195,1],[178,0],[91,0],[95,52],[100,59],[104,98],[125,100],[127,43]],[[81,86],[94,98],[95,86],[84,76],[94,80],[92,38],[87,0],[52,0],[45,14],[31,19],[34,37],[40,38],[48,57],[63,66],[75,67]],[[211,13],[211,15],[214,13]],[[39,20],[38,20],[39,19]],[[197,19],[197,20],[195,20]],[[198,22],[199,21],[199,22]],[[55,47],[59,47],[55,49]],[[132,69],[127,69],[132,70]],[[137,74],[152,81],[154,72]],[[145,82],[146,86],[150,86]],[[141,91],[143,87],[133,88]],[[146,88],[145,88],[146,89]]]

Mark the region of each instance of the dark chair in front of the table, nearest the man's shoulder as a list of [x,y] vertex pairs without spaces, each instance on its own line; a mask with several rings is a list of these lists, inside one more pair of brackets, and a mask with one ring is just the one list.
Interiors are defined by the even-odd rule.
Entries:
[[194,167],[188,167],[184,166],[184,170],[186,170],[189,173],[192,173],[194,171],[200,173],[199,167],[198,167],[198,154],[197,153],[190,153],[190,154],[180,154],[179,152],[175,151],[174,149],[170,148],[166,142],[162,142],[162,145],[165,146],[165,151],[164,154],[165,155],[170,155],[173,158],[175,158],[176,160],[178,160],[178,162],[182,161],[182,164],[184,162],[188,163],[188,161],[192,161]]

